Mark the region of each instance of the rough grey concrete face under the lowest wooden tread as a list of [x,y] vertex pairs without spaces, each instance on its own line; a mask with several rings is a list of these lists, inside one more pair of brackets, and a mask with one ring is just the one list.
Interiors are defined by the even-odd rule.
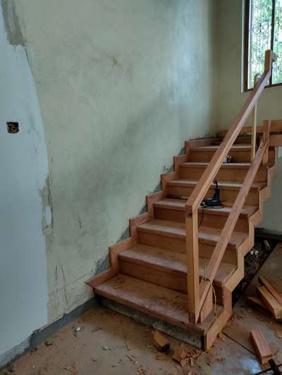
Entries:
[[191,332],[185,332],[184,329],[181,329],[178,326],[166,323],[163,320],[149,316],[148,314],[135,310],[132,307],[128,307],[126,305],[122,305],[121,303],[117,303],[114,300],[109,300],[108,298],[101,296],[97,296],[97,298],[105,307],[108,307],[111,310],[119,312],[120,314],[126,315],[127,317],[134,319],[136,322],[152,326],[154,329],[164,332],[168,336],[177,338],[178,340],[183,341],[185,343],[195,345],[198,348],[202,349],[203,347],[202,337],[200,336],[200,334],[197,335],[197,333],[193,333],[192,335]]

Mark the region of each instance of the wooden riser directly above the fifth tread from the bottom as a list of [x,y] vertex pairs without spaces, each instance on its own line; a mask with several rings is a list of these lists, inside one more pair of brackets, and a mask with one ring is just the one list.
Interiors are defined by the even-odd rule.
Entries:
[[[203,167],[183,167],[180,165],[180,178],[198,180],[204,173]],[[247,175],[247,168],[223,167],[219,170],[215,179],[226,182],[243,182]],[[259,169],[255,177],[255,182],[266,182],[267,170]]]

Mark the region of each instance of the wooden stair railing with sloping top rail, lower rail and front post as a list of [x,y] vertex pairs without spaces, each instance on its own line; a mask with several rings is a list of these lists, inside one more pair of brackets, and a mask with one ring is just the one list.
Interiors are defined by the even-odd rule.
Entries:
[[[187,260],[188,260],[188,311],[190,313],[190,318],[197,322],[200,316],[200,310],[202,309],[202,305],[204,303],[205,298],[207,297],[207,293],[209,291],[210,283],[214,280],[214,275],[216,274],[217,268],[222,260],[223,254],[226,250],[226,246],[230,239],[230,236],[233,232],[235,224],[238,220],[240,212],[238,211],[241,205],[241,202],[235,201],[234,207],[231,210],[231,214],[228,217],[228,227],[225,226],[223,228],[222,234],[224,232],[224,236],[221,234],[219,242],[214,248],[214,253],[212,254],[212,258],[209,260],[209,265],[207,268],[207,278],[209,281],[201,281],[199,279],[199,250],[198,250],[198,217],[197,217],[197,210],[202,203],[204,196],[206,195],[209,187],[214,182],[216,174],[219,172],[219,169],[223,163],[223,160],[228,155],[235,139],[240,134],[243,125],[247,121],[247,117],[252,113],[253,108],[255,108],[255,104],[259,96],[262,94],[264,87],[269,82],[269,78],[271,77],[272,72],[272,62],[276,59],[276,55],[268,50],[265,52],[265,63],[264,63],[264,73],[262,77],[259,78],[257,85],[252,90],[249,98],[245,102],[243,109],[240,111],[238,117],[233,122],[231,129],[228,130],[225,138],[223,139],[221,145],[217,149],[216,153],[212,160],[210,161],[207,168],[204,170],[202,177],[200,178],[199,182],[195,186],[195,189],[192,191],[188,201],[185,205],[186,211],[186,250],[187,250]],[[268,147],[268,141],[264,140],[264,147]],[[255,170],[255,166],[257,165],[257,160],[260,155],[264,155],[265,151],[264,147],[260,146],[259,148],[259,156],[256,155],[252,166],[250,167],[250,173],[247,174],[247,177],[250,179],[252,178],[252,172]],[[258,154],[257,153],[257,154]],[[257,166],[257,168],[259,165]],[[247,178],[246,177],[246,178]],[[244,182],[247,184],[246,180]],[[243,187],[244,187],[243,185]],[[246,185],[248,186],[248,185]],[[240,198],[243,199],[245,196],[245,191],[247,188],[241,189],[239,192]],[[239,196],[238,194],[238,196]],[[236,205],[237,202],[237,205]],[[243,200],[243,203],[245,199]],[[242,205],[243,207],[243,205]],[[242,208],[241,207],[241,208]],[[241,210],[240,208],[240,210]],[[230,218],[231,217],[231,218]],[[227,224],[226,222],[226,224]],[[233,224],[234,222],[234,224]],[[232,227],[233,226],[233,227]],[[230,234],[230,236],[229,236]],[[228,238],[229,236],[229,238]],[[228,238],[228,239],[227,239]],[[227,241],[227,242],[226,242]],[[220,259],[217,260],[217,257]]]

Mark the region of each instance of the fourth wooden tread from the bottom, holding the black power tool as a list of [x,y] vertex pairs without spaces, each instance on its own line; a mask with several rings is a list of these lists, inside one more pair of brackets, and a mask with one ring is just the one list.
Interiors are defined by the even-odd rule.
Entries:
[[[167,210],[180,210],[185,211],[186,201],[183,199],[174,199],[174,198],[164,198],[160,201],[154,203],[154,207],[157,208],[166,208]],[[223,208],[204,208],[204,214],[212,215],[229,215],[232,207],[224,206]],[[199,210],[202,210],[200,207]],[[257,211],[256,205],[245,205],[241,211],[242,216],[250,217],[253,213]]]

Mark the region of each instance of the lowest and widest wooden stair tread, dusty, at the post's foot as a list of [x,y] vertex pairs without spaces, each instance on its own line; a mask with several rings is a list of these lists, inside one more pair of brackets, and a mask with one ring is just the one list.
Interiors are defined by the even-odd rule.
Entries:
[[95,287],[94,293],[184,329],[192,327],[201,333],[207,331],[214,321],[213,314],[211,314],[202,324],[190,323],[186,294],[123,274]]

